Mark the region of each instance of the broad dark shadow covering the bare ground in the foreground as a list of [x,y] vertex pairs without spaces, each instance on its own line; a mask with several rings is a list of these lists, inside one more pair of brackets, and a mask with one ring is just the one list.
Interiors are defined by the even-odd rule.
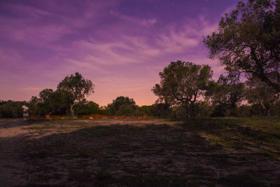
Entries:
[[[233,146],[202,136],[221,133]],[[14,156],[25,163],[19,173],[26,183],[19,186],[279,186],[279,160],[236,140],[275,135],[262,133],[215,121],[99,125],[40,139],[19,137]]]

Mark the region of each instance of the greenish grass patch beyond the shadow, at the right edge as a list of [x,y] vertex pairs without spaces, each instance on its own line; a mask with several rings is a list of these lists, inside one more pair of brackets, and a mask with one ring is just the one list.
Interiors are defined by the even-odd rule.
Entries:
[[[246,147],[280,158],[280,118],[201,118],[188,120],[186,129],[205,134],[226,148]],[[202,135],[203,136],[203,135]]]

